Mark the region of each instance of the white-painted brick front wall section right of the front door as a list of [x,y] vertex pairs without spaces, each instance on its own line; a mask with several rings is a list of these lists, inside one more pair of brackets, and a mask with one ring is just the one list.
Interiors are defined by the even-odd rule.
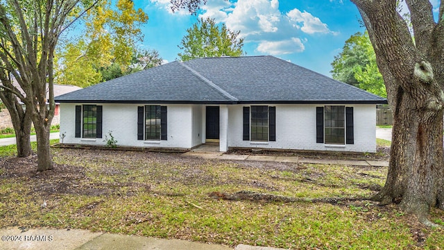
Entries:
[[[266,104],[264,104],[266,105]],[[348,105],[354,108],[355,144],[326,145],[316,143],[316,107],[323,105],[269,105],[276,107],[276,141],[242,140],[243,107],[229,106],[229,147],[300,149],[320,151],[376,151],[376,106]]]

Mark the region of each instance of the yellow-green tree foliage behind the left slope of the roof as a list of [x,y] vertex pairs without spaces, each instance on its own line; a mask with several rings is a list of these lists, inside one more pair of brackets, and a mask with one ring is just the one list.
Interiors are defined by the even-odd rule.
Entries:
[[84,17],[85,35],[58,51],[58,83],[85,88],[133,72],[139,54],[135,47],[143,40],[140,26],[148,16],[136,10],[131,0],[111,3],[101,0],[89,10]]

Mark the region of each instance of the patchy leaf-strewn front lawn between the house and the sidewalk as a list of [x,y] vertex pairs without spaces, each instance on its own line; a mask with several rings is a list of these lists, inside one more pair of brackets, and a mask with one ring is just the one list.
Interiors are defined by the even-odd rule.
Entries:
[[[85,228],[292,249],[439,249],[444,243],[443,230],[424,228],[395,205],[367,200],[384,185],[384,167],[85,149],[53,149],[53,161],[54,171],[37,174],[35,158],[0,156],[0,227]],[[210,197],[240,190],[331,202]],[[442,224],[444,213],[432,210],[429,219]]]

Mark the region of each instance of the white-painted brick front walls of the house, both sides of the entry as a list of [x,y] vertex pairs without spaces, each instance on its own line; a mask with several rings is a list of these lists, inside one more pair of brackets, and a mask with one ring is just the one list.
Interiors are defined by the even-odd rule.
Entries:
[[[105,135],[112,131],[119,146],[166,147],[190,149],[205,142],[205,106],[166,105],[168,140],[137,140],[137,106],[142,104],[98,104],[103,106],[103,138],[82,139],[75,135],[75,106],[62,103],[60,113],[60,135],[67,144],[103,145]],[[264,104],[266,105],[266,104]],[[272,149],[302,149],[319,151],[375,152],[375,105],[348,105],[354,108],[355,144],[326,145],[316,143],[316,107],[323,105],[270,105],[276,107],[276,141],[250,142],[243,138],[244,105],[221,106],[222,113],[228,109],[228,130],[221,133],[221,142],[228,147],[260,147]],[[226,116],[225,116],[226,117]],[[221,127],[223,129],[223,127]],[[224,131],[222,131],[224,132]],[[60,142],[62,142],[60,140]]]

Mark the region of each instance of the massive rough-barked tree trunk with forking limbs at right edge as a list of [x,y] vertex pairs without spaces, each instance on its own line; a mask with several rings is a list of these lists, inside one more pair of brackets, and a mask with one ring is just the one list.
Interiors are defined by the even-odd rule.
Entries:
[[368,29],[394,111],[386,184],[375,199],[400,202],[407,213],[425,218],[433,206],[444,208],[443,11],[436,23],[429,1],[406,0],[412,37],[396,1],[352,2]]

